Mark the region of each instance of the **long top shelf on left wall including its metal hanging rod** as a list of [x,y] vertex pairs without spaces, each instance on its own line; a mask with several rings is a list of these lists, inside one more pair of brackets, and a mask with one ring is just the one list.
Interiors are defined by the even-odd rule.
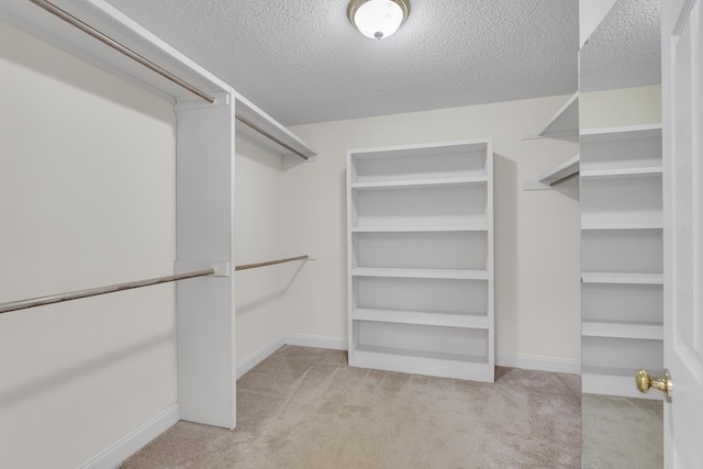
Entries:
[[[233,99],[237,135],[263,145],[279,155],[287,164],[315,160],[314,149],[305,142],[234,90],[224,90],[225,94],[231,94],[231,98],[225,97],[221,83],[193,72],[196,64],[166,43],[154,37],[147,40],[134,31],[120,29],[119,24],[111,20],[116,18],[127,26],[136,24],[110,4],[92,0],[89,5],[92,8],[82,11],[83,7],[80,5],[66,3],[65,10],[56,3],[64,5],[65,2],[26,0],[2,5],[0,19],[10,22],[19,19],[23,23],[32,24],[36,22],[38,7],[47,15],[42,19],[42,31],[37,33],[47,42],[171,101],[182,101],[192,105],[192,97],[210,104],[221,104],[222,100]],[[74,10],[80,11],[78,13]],[[51,21],[48,14],[62,21]],[[91,24],[79,18],[89,18]],[[76,30],[97,41],[87,43],[83,37],[76,35]],[[169,49],[171,54],[154,54],[155,48]]]

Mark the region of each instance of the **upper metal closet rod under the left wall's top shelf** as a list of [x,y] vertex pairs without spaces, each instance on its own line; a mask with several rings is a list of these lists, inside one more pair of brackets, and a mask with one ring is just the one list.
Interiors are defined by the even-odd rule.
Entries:
[[[105,35],[105,34],[101,33],[100,31],[96,30],[94,27],[83,23],[82,21],[80,21],[79,19],[77,19],[72,14],[68,13],[67,11],[62,10],[60,8],[56,7],[54,3],[49,2],[49,1],[46,1],[46,0],[30,0],[30,1],[32,3],[34,3],[34,4],[36,4],[37,7],[48,11],[53,15],[66,21],[70,25],[79,29],[80,31],[91,35],[92,37],[97,38],[101,43],[112,47],[113,49],[115,49],[115,51],[118,51],[118,52],[120,52],[120,53],[122,53],[124,55],[126,55],[131,59],[138,62],[140,64],[142,64],[143,66],[148,68],[149,70],[153,70],[153,71],[157,72],[161,77],[167,78],[168,80],[170,80],[170,81],[175,82],[176,85],[187,89],[188,91],[192,92],[193,94],[199,96],[200,98],[204,99],[205,101],[208,101],[210,103],[214,103],[215,102],[215,99],[213,97],[211,97],[210,94],[205,93],[204,91],[199,90],[198,88],[196,88],[194,86],[190,85],[186,80],[182,80],[182,79],[178,78],[177,76],[175,76],[170,71],[168,71],[168,70],[159,67],[158,65],[154,64],[153,62],[142,57],[140,54],[135,53],[131,48],[122,45],[121,43],[116,42],[115,40],[113,40],[112,37]],[[256,132],[258,132],[259,134],[264,135],[265,137],[276,142],[277,144],[279,144],[283,148],[288,149],[289,152],[293,153],[294,155],[300,156],[304,160],[308,160],[310,158],[309,156],[303,155],[302,153],[300,153],[295,148],[291,147],[290,145],[287,145],[286,143],[281,142],[279,138],[276,138],[274,135],[271,135],[268,132],[264,131],[263,129],[260,129],[256,124],[247,121],[245,118],[242,118],[241,115],[237,115],[236,119],[238,121],[243,122],[244,124],[248,125],[249,127],[254,129]]]

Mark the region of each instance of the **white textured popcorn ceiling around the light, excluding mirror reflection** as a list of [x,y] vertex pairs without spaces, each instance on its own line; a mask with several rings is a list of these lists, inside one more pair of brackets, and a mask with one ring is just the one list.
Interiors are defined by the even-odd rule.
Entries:
[[578,0],[410,0],[362,36],[348,0],[108,0],[286,125],[572,93]]

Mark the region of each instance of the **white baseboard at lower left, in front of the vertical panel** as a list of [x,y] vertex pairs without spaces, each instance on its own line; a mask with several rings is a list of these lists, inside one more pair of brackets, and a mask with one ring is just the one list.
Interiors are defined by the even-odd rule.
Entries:
[[145,447],[149,442],[166,432],[178,422],[178,404],[172,404],[158,415],[140,425],[124,437],[112,444],[90,460],[79,466],[79,469],[113,469],[126,458]]

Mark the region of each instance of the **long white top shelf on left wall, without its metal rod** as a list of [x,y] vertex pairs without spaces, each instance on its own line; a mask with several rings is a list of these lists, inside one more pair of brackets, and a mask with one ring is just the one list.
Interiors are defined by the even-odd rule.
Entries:
[[[261,131],[303,155],[313,157],[315,152],[292,132],[237,94],[228,85],[220,80],[183,54],[156,37],[131,18],[103,0],[89,2],[55,1],[72,16],[89,24],[94,30],[122,44],[152,64],[177,76],[203,93],[215,99],[209,103],[174,81],[154,72],[144,65],[102,42],[78,31],[75,26],[44,12],[29,1],[4,2],[0,7],[0,19],[27,31],[69,54],[76,55],[94,66],[113,74],[140,88],[180,105],[215,107],[228,99],[234,100],[235,113],[256,124]],[[293,160],[302,159],[284,146],[238,122],[236,133],[263,144],[275,154]],[[313,160],[312,158],[309,160]]]

